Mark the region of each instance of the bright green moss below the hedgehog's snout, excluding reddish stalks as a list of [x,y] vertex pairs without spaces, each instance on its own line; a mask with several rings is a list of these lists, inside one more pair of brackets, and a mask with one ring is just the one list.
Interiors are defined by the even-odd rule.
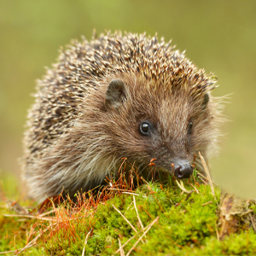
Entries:
[[[215,189],[217,201],[219,201],[220,190]],[[209,186],[201,185],[199,194],[195,192],[188,196],[181,195],[181,190],[172,184],[161,189],[158,183],[148,183],[137,189],[136,204],[139,216],[143,226],[146,227],[154,218],[160,217],[158,222],[154,224],[148,235],[143,239],[144,243],[140,242],[132,255],[167,255],[167,254],[184,254],[188,253],[200,254],[217,254],[217,253],[242,253],[244,248],[239,242],[236,242],[236,251],[231,247],[224,247],[230,242],[234,243],[231,238],[227,238],[223,242],[218,241],[216,237],[216,223],[218,220],[218,203],[214,201],[212,192]],[[202,206],[203,204],[212,201],[212,203]],[[92,236],[89,237],[85,247],[87,255],[110,255],[119,249],[118,238],[124,244],[131,236],[136,235],[136,232],[131,229],[124,218],[114,208],[118,208],[125,215],[137,231],[140,231],[140,225],[137,218],[137,213],[133,204],[132,195],[116,195],[113,199],[106,201],[104,204],[97,207],[95,213],[96,223]],[[79,237],[80,251],[83,249],[83,242],[88,230]],[[249,233],[251,241],[254,234]],[[125,253],[137,241],[135,239],[125,247]],[[246,236],[246,233],[236,234],[236,237]],[[235,237],[235,236],[234,236]],[[243,238],[241,238],[243,239]],[[52,251],[53,240],[46,242],[45,247],[48,252]],[[64,245],[64,243],[62,243]],[[251,247],[248,244],[248,247]],[[63,247],[64,251],[69,251],[75,255],[78,253],[78,244],[76,247],[68,245]],[[233,246],[234,247],[234,246]],[[79,251],[79,252],[80,252]],[[253,247],[251,248],[253,251]],[[250,251],[250,252],[251,252]]]

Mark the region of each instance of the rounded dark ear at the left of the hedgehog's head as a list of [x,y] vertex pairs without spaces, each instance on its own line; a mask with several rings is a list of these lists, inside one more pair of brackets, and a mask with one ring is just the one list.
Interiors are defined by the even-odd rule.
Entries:
[[121,80],[113,80],[108,84],[108,90],[106,92],[106,107],[119,108],[125,101],[127,90],[125,84]]

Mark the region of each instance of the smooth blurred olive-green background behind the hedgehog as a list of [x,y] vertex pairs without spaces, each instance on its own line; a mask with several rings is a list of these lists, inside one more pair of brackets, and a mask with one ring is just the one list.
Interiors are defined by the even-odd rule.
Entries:
[[20,184],[22,133],[35,80],[71,38],[97,32],[147,32],[166,41],[218,77],[214,96],[230,96],[230,122],[218,158],[217,183],[256,195],[256,2],[149,0],[0,1],[0,169],[3,186]]

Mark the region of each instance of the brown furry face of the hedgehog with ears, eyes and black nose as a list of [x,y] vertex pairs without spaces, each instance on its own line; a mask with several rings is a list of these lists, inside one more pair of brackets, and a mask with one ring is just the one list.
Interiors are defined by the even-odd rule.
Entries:
[[174,172],[178,178],[193,172],[195,154],[209,143],[209,95],[195,102],[185,91],[154,92],[143,84],[113,79],[105,105],[112,122],[113,141],[121,157]]

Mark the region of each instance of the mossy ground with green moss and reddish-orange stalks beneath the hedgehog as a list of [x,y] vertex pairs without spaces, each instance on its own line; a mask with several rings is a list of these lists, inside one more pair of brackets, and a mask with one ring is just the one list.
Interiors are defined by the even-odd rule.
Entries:
[[[185,188],[193,189],[189,183]],[[3,207],[0,252],[25,247],[39,234],[36,246],[20,255],[82,255],[83,250],[84,255],[112,255],[133,236],[124,247],[125,254],[121,251],[116,255],[126,255],[132,247],[131,255],[256,254],[253,229],[218,240],[220,189],[215,188],[216,200],[209,185],[201,184],[197,189],[198,193],[189,195],[181,193],[172,181],[165,185],[145,183],[132,192],[135,195],[119,192],[97,203],[90,197],[87,203],[80,201],[75,210],[65,202],[55,209],[54,217],[48,216],[49,220],[19,221],[22,217],[3,216],[14,213]]]

